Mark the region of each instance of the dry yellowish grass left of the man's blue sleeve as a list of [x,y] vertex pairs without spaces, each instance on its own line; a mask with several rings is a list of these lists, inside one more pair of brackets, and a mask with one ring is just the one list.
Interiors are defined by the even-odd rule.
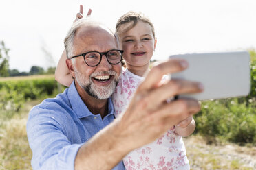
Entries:
[[27,104],[19,114],[12,119],[0,119],[0,169],[32,169],[30,160],[32,151],[28,145],[25,125],[28,112],[34,104],[39,101],[32,101]]

